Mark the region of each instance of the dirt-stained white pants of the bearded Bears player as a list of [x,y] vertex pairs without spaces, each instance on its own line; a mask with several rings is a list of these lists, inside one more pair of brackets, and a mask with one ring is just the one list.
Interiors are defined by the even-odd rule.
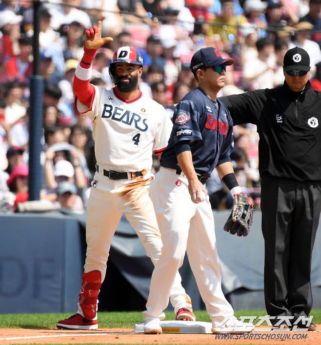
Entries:
[[[149,181],[109,180],[100,173],[95,174],[95,180],[98,182],[95,183],[96,187],[91,187],[86,213],[87,252],[84,271],[99,270],[103,282],[111,241],[122,213],[125,213],[136,231],[146,255],[155,264],[161,255],[162,242],[154,206],[148,195]],[[171,291],[175,312],[181,307],[192,307],[178,272]]]

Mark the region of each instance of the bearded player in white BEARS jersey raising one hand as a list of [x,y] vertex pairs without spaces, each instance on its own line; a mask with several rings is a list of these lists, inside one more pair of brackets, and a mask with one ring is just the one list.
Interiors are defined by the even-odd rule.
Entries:
[[[98,328],[98,294],[122,213],[154,264],[161,254],[161,235],[148,192],[152,153],[160,155],[166,147],[172,122],[159,103],[139,90],[143,60],[133,47],[120,47],[114,53],[109,66],[114,88],[89,83],[95,53],[108,41],[112,38],[101,38],[101,22],[86,30],[84,54],[73,83],[76,110],[93,122],[97,171],[86,213],[87,252],[78,311],[59,321],[58,328]],[[174,280],[171,301],[177,319],[195,321],[180,275]]]

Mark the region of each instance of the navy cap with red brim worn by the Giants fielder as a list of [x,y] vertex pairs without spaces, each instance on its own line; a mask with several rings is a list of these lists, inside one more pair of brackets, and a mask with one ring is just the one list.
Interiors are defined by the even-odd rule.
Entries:
[[234,63],[234,59],[223,59],[216,48],[206,47],[201,48],[193,55],[190,69],[195,73],[200,68],[218,66],[222,63],[229,66]]

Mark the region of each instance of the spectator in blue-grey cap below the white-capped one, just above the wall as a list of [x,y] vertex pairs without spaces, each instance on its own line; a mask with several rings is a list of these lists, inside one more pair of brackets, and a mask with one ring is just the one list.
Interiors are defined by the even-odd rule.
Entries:
[[57,202],[61,208],[83,213],[84,207],[81,198],[77,195],[74,183],[61,182],[56,188]]

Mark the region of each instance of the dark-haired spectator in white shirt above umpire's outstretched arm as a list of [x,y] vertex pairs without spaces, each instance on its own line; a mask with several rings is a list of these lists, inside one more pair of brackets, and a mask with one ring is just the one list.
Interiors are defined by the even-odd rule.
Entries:
[[273,87],[274,45],[269,39],[257,41],[258,57],[243,66],[243,84],[248,90]]

